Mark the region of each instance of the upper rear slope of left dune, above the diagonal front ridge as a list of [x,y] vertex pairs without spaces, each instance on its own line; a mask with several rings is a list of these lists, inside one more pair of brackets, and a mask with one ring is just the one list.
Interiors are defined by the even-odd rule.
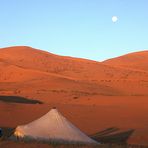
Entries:
[[[146,78],[147,73],[125,70],[103,63],[54,55],[31,47],[10,47],[0,50],[0,61],[21,68],[56,73],[84,80]],[[132,75],[131,73],[135,73]],[[140,78],[139,78],[140,79]]]

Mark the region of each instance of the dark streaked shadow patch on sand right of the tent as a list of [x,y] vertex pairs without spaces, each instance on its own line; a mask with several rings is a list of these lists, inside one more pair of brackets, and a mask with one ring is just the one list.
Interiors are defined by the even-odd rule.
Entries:
[[121,131],[118,128],[107,128],[103,131],[97,132],[90,137],[101,143],[111,144],[127,144],[129,137],[133,134],[134,129]]

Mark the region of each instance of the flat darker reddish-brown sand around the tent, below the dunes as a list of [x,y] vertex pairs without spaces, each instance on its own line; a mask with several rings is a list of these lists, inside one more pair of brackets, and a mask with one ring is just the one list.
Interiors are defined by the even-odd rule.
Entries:
[[88,135],[109,127],[134,129],[129,143],[148,144],[147,97],[94,97],[74,99],[66,104],[0,103],[1,127],[26,124],[56,106],[62,114]]

